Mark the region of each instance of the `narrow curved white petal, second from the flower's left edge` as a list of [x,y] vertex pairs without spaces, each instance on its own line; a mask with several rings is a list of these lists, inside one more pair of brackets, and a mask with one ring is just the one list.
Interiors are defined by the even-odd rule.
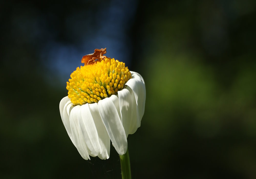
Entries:
[[70,128],[70,122],[69,122],[69,114],[70,114],[70,111],[71,111],[72,108],[73,108],[72,102],[69,100],[64,105],[64,108],[63,108],[63,112],[62,112],[62,114],[63,114],[63,121],[62,122],[63,122],[63,125],[66,128],[66,131],[68,133],[69,138],[71,139],[72,143],[74,143],[73,142],[73,136],[72,136],[71,128]]

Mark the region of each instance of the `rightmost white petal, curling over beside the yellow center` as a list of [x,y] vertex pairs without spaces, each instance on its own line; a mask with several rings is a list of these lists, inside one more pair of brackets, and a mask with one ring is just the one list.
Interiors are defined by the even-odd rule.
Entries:
[[134,92],[138,120],[137,127],[140,127],[140,121],[145,111],[146,87],[143,78],[138,76],[137,73],[131,71],[131,75],[132,78],[125,85],[129,86]]

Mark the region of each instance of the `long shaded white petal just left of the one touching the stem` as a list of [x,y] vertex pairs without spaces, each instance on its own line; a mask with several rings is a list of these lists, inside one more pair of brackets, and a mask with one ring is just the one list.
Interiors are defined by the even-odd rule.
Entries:
[[108,132],[101,120],[100,112],[97,103],[89,104],[89,110],[94,120],[95,127],[98,132],[99,143],[101,146],[101,154],[98,155],[100,159],[108,159],[110,154],[110,138]]

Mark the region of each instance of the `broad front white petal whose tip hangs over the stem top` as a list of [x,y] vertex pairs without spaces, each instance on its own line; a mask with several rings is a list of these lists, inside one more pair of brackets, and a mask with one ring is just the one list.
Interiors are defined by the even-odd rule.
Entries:
[[[113,96],[113,97],[112,97]],[[111,97],[114,99],[115,95]],[[116,151],[123,155],[127,150],[127,138],[118,110],[110,98],[98,102],[100,116]]]

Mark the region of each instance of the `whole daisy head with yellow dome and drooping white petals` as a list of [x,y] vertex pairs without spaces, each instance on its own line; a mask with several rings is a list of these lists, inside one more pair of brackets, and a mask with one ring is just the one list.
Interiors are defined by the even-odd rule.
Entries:
[[78,152],[86,160],[90,156],[108,159],[111,140],[120,155],[126,153],[127,136],[140,127],[144,114],[146,90],[141,75],[104,56],[78,67],[70,77],[60,115]]

